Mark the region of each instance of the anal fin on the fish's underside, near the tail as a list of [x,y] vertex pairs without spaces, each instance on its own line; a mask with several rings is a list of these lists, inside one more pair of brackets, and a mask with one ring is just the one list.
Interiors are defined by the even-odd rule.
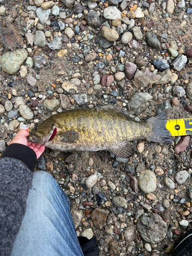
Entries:
[[135,146],[132,142],[127,142],[118,147],[111,147],[110,151],[118,157],[128,158],[134,154]]

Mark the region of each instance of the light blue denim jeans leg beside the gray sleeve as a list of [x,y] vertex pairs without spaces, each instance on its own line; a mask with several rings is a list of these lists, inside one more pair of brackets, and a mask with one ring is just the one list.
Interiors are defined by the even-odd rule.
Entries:
[[11,256],[61,255],[83,256],[70,202],[49,173],[36,172]]

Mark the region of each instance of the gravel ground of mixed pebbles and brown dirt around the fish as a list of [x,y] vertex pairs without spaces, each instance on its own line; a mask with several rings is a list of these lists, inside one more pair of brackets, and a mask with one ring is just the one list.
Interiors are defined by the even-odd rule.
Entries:
[[[0,0],[0,156],[20,125],[65,110],[191,118],[191,14],[184,0]],[[46,148],[37,163],[100,256],[170,255],[191,228],[191,136],[134,143],[129,159]]]

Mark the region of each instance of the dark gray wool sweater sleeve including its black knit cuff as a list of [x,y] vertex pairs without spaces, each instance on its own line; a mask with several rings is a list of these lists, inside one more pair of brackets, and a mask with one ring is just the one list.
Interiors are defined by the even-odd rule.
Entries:
[[36,154],[28,146],[11,144],[0,159],[0,255],[9,256],[26,211]]

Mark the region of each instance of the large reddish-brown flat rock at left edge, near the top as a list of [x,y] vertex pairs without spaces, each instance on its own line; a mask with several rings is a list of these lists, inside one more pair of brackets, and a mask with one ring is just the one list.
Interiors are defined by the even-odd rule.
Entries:
[[22,36],[15,27],[3,17],[0,17],[0,42],[4,47],[12,51],[17,48],[23,48],[24,45]]

